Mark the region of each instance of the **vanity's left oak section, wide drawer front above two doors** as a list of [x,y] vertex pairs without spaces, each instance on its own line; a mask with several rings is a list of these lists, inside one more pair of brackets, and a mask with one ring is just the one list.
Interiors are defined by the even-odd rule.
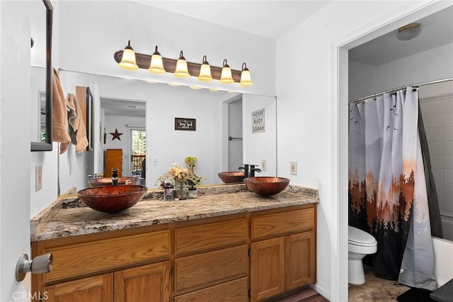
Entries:
[[43,301],[171,301],[171,231],[106,233],[33,242],[34,255],[53,256],[33,291]]

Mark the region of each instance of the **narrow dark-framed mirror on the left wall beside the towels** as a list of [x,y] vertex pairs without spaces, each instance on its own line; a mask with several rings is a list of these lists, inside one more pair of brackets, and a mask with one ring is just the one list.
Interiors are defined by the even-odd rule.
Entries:
[[[44,4],[44,5],[42,5]],[[33,9],[31,20],[31,50],[32,66],[44,68],[44,73],[31,72],[32,91],[31,103],[36,108],[32,120],[32,141],[30,151],[52,151],[52,18],[53,7],[49,0],[42,3],[30,3],[40,6]],[[39,59],[38,59],[39,57]],[[38,75],[38,76],[37,76]],[[38,86],[40,89],[33,89]]]

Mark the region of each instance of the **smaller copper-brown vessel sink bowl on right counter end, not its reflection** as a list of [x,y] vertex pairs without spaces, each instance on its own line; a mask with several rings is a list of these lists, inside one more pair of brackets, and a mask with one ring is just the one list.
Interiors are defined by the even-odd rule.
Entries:
[[248,190],[262,195],[272,196],[286,189],[289,185],[288,178],[277,178],[273,176],[257,176],[255,178],[244,178],[243,182]]

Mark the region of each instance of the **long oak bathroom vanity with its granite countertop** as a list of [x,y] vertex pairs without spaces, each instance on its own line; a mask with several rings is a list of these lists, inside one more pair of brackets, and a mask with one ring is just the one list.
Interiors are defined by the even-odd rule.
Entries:
[[31,221],[32,257],[53,256],[32,291],[47,301],[239,302],[316,282],[317,190],[198,191],[168,202],[150,190],[120,214],[58,199]]

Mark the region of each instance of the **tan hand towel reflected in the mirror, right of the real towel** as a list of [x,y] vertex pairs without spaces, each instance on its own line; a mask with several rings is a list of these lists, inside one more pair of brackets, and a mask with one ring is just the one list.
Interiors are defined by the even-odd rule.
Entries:
[[79,99],[76,95],[68,93],[67,99],[69,136],[72,144],[76,145],[76,152],[81,153],[86,151],[88,139],[86,138],[86,127],[82,112],[80,109]]

